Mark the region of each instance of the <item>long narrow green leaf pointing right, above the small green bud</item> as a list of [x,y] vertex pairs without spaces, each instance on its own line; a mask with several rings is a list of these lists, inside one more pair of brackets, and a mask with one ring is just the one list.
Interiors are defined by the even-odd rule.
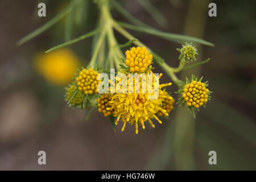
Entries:
[[118,24],[124,28],[128,28],[130,30],[135,30],[139,32],[144,32],[146,34],[151,34],[155,36],[159,36],[160,38],[166,39],[166,40],[171,40],[172,42],[177,42],[177,43],[185,43],[185,42],[194,42],[194,43],[199,43],[199,44],[204,44],[207,46],[214,46],[213,43],[210,43],[208,41],[205,41],[203,39],[199,38],[194,38],[192,36],[187,36],[187,35],[179,35],[179,34],[172,34],[168,32],[162,32],[159,30],[155,30],[153,28],[144,28],[144,27],[139,27],[139,26],[134,26],[132,24],[128,23],[123,23],[123,22],[118,22]]

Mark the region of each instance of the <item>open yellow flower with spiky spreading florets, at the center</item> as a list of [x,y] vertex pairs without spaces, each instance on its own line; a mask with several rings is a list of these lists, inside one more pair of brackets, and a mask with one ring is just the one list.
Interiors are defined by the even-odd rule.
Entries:
[[[154,76],[154,75],[153,75]],[[159,78],[162,74],[159,75]],[[154,82],[152,82],[154,85]],[[159,92],[164,86],[171,85],[160,84]],[[127,86],[128,87],[128,86]],[[140,80],[140,89],[142,88]],[[110,108],[107,110],[113,110],[113,116],[117,117],[115,125],[118,124],[119,119],[123,121],[122,131],[125,130],[126,123],[129,122],[131,125],[135,123],[135,133],[138,134],[138,124],[142,125],[144,129],[144,122],[148,121],[152,127],[155,127],[154,123],[151,121],[151,118],[155,118],[156,121],[162,123],[160,119],[156,116],[156,113],[161,111],[163,115],[168,115],[167,111],[161,107],[162,101],[167,96],[159,94],[159,97],[155,100],[148,99],[150,96],[148,92],[146,93],[114,93],[112,94],[112,100],[109,101]]]

